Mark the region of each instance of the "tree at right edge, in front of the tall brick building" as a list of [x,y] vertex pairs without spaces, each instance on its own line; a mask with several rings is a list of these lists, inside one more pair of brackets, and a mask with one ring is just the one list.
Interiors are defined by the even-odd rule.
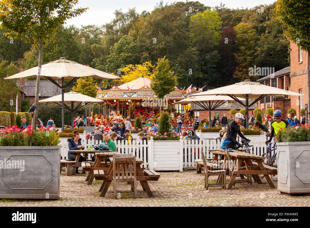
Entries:
[[[286,26],[286,38],[307,51],[308,104],[310,104],[310,2],[308,0],[278,0],[277,13]],[[310,123],[308,109],[308,123]]]

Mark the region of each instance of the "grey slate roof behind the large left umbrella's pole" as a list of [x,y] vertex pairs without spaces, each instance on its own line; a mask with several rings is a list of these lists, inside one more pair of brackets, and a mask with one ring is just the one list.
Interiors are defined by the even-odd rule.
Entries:
[[[19,86],[19,81],[16,82]],[[25,81],[24,92],[27,96],[36,96],[36,81]],[[50,81],[40,81],[40,97],[52,97],[59,95],[61,90],[58,86]]]

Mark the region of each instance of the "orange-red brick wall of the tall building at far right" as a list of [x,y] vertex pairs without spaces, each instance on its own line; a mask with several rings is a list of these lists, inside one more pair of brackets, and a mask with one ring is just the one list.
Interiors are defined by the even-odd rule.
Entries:
[[[298,93],[303,89],[303,105],[308,103],[308,88],[307,88],[307,52],[303,51],[303,61],[299,62],[299,49],[296,44],[290,42],[291,48],[291,73],[290,73],[290,89],[289,91]],[[291,107],[296,110],[297,118],[300,119],[300,97],[289,96],[291,99]]]

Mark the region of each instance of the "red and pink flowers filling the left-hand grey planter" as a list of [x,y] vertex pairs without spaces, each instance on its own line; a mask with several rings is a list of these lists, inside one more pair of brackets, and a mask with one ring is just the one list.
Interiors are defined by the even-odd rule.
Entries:
[[42,126],[34,131],[31,126],[20,129],[16,125],[0,129],[0,146],[56,146],[59,136],[55,132],[45,132]]

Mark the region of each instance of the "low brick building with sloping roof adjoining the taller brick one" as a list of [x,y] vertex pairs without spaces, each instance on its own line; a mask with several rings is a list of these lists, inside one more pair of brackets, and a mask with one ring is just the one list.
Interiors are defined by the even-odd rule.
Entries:
[[[266,77],[260,78],[257,82],[266,86],[288,90],[290,87],[290,67],[286,67]],[[291,106],[291,99],[286,96],[265,96],[259,100],[257,106],[263,110],[263,113],[265,113],[266,109],[269,107],[272,107],[273,110],[280,109],[283,117],[286,118],[287,110]]]

